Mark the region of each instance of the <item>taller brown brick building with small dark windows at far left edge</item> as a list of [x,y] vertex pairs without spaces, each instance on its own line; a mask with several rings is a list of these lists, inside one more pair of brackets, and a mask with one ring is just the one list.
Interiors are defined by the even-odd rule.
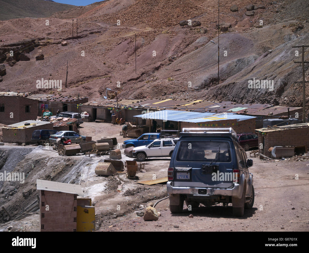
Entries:
[[[5,93],[4,93],[5,94]],[[24,120],[36,120],[38,102],[19,93],[0,94],[0,123],[14,124]]]

